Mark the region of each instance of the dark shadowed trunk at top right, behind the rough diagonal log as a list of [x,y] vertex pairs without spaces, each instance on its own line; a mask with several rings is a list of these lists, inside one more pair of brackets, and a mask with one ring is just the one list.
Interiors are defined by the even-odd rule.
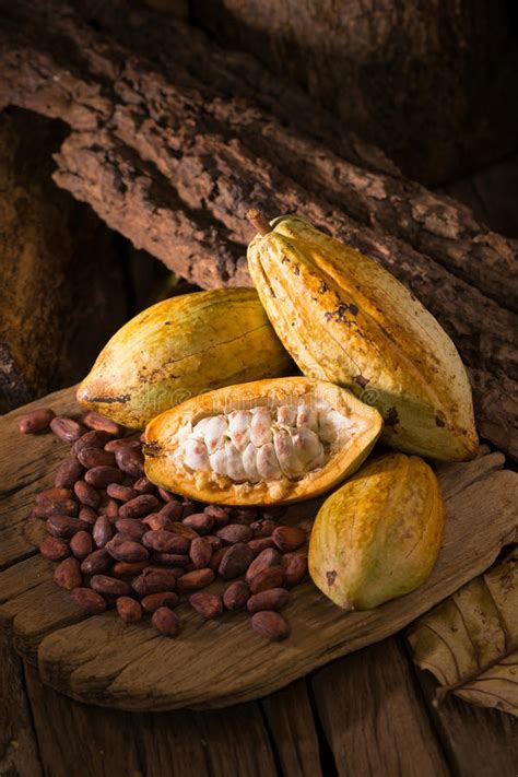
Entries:
[[506,0],[190,0],[223,46],[298,83],[434,186],[517,150],[518,14]]

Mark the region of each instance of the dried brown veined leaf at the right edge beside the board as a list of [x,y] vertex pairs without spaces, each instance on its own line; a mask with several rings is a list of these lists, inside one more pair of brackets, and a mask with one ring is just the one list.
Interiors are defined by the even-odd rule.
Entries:
[[448,693],[518,716],[518,548],[409,628],[415,663]]

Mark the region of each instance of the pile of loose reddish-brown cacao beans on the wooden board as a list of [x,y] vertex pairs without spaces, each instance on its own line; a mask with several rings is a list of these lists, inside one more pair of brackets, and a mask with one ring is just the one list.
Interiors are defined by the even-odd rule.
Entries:
[[57,562],[55,582],[79,607],[98,614],[115,605],[126,623],[149,613],[175,637],[174,610],[187,598],[204,620],[245,609],[261,637],[289,635],[279,611],[305,578],[307,555],[304,529],[279,520],[285,507],[201,506],[156,487],[140,437],[96,412],[72,419],[38,409],[19,421],[24,434],[49,427],[71,450],[33,516],[46,520],[39,550]]

